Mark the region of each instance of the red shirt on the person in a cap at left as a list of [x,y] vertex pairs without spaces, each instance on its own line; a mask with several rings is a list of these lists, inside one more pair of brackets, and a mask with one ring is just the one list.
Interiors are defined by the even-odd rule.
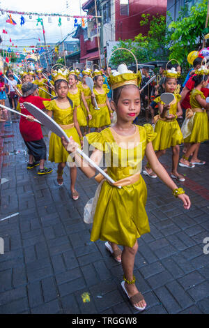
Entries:
[[[27,101],[28,103],[32,103],[36,107],[40,108],[40,110],[43,110],[45,108],[42,103],[44,100],[50,101],[50,99],[31,95],[28,97],[20,97],[19,103],[22,114],[31,115],[31,113],[26,110],[26,107],[24,107],[23,105],[25,101]],[[36,141],[42,139],[43,137],[40,124],[37,122],[30,122],[23,116],[20,118],[20,133],[22,134],[24,141]]]

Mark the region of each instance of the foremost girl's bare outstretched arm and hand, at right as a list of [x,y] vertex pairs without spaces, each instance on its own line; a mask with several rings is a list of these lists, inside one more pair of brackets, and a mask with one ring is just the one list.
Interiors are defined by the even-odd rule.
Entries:
[[[148,159],[148,162],[150,163],[151,168],[162,180],[162,182],[164,182],[164,184],[166,184],[171,189],[171,191],[173,191],[173,189],[178,188],[178,186],[176,186],[173,180],[169,177],[167,170],[165,170],[164,167],[158,161],[157,156],[155,155],[155,151],[153,150],[152,142],[149,142],[147,144],[145,154],[146,158]],[[185,209],[189,209],[191,205],[189,197],[186,194],[182,194],[178,195],[178,198],[183,201],[183,207]]]

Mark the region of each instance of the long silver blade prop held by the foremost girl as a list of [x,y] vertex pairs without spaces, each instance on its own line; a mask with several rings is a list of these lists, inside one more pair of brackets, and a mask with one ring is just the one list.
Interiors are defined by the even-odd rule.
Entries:
[[[68,135],[66,135],[65,131],[63,131],[63,129],[59,126],[59,124],[57,124],[54,119],[52,119],[51,117],[49,117],[49,115],[45,114],[45,112],[42,112],[42,110],[40,110],[38,107],[36,107],[35,105],[31,104],[31,103],[24,103],[24,106],[26,107],[27,110],[29,110],[29,112],[31,112],[31,114],[34,117],[37,117],[42,124],[44,124],[44,126],[46,126],[47,128],[49,128],[49,130],[51,130],[53,133],[55,133],[56,135],[58,135],[59,137],[65,137],[65,140],[67,142],[70,142],[70,139],[68,137]],[[91,164],[91,166],[95,167],[96,170],[98,170],[103,177],[105,177],[107,180],[109,180],[111,182],[111,184],[114,184],[114,180],[111,179],[111,177],[109,177],[109,175],[104,172],[97,164],[95,164],[91,158],[89,158],[81,149],[77,149],[77,153],[79,155],[81,155],[89,164]],[[121,188],[121,186],[117,186],[117,188]]]

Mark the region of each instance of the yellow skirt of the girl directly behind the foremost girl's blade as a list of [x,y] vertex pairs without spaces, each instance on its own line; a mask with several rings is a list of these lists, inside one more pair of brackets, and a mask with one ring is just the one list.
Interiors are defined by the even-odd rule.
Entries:
[[[64,131],[66,135],[68,135],[68,137],[72,136],[73,140],[75,140],[75,142],[81,145],[79,135],[75,127],[69,128]],[[63,147],[63,144],[61,143],[61,138],[58,135],[52,133],[49,140],[49,161],[55,163],[64,163],[67,162],[68,156],[70,155],[68,151],[66,151]],[[71,161],[71,157],[69,157],[69,160]]]

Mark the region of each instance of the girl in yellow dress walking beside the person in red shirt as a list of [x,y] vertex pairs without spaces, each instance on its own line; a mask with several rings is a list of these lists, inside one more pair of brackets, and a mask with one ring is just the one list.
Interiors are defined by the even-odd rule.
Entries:
[[[82,133],[77,122],[77,110],[76,107],[72,107],[72,102],[67,98],[69,87],[68,81],[65,77],[58,75],[54,82],[54,87],[56,89],[57,98],[51,101],[43,101],[46,110],[48,110],[48,115],[54,116],[54,121],[56,121],[61,128],[65,131],[68,137],[72,136],[73,139],[77,140],[77,144],[81,147]],[[69,154],[65,151],[63,145],[61,144],[61,138],[51,134],[49,140],[49,161],[58,163],[57,170],[57,182],[59,186],[63,185],[63,169],[66,162],[69,161]],[[71,193],[72,199],[78,200],[79,193],[75,190],[75,182],[77,178],[77,167],[70,163],[70,179],[71,179]]]

